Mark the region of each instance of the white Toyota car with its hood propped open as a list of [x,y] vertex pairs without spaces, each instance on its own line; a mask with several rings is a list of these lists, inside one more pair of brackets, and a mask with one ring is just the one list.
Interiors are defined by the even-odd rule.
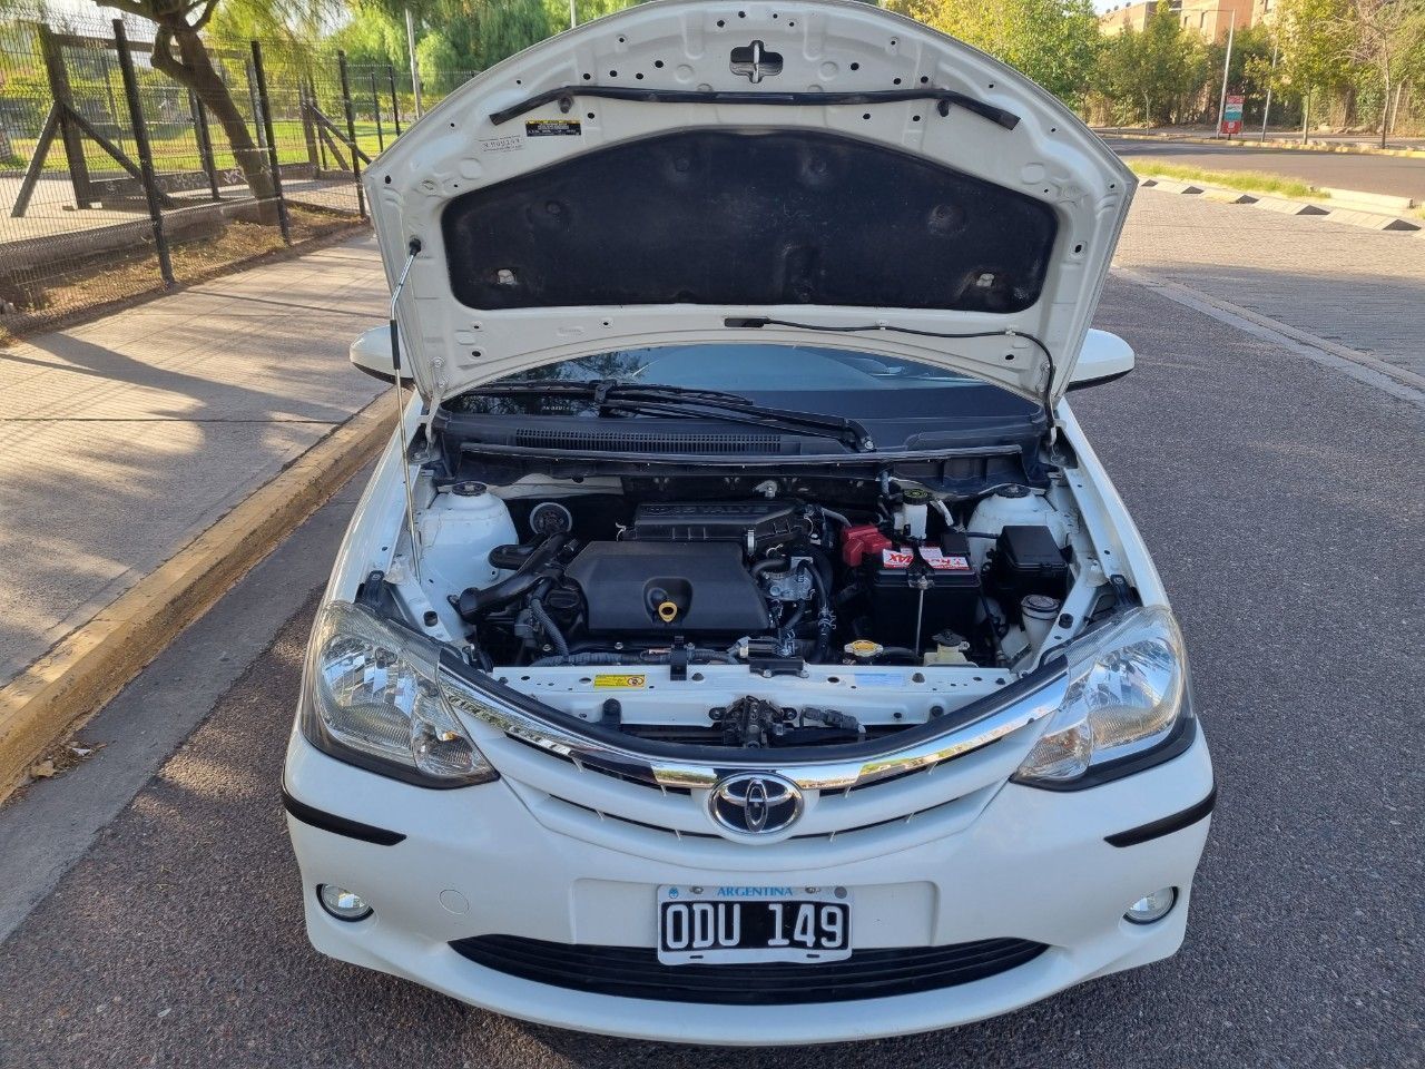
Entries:
[[353,359],[413,392],[286,760],[316,949],[770,1045],[1178,948],[1213,773],[1064,398],[1133,363],[1089,324],[1134,180],[1073,114],[869,4],[670,0],[365,181],[400,349]]

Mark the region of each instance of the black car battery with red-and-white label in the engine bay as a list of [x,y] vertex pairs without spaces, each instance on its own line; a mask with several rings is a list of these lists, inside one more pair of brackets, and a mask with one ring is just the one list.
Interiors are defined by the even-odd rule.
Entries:
[[918,630],[922,646],[936,631],[973,633],[980,580],[963,532],[945,532],[938,546],[899,543],[866,553],[861,570],[871,603],[868,637],[882,646],[913,647]]

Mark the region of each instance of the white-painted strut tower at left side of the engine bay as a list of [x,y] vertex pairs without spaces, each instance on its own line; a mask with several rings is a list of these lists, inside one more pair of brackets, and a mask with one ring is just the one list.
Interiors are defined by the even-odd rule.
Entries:
[[446,592],[489,586],[503,574],[490,567],[490,550],[520,540],[504,502],[476,482],[436,495],[419,527],[422,566]]

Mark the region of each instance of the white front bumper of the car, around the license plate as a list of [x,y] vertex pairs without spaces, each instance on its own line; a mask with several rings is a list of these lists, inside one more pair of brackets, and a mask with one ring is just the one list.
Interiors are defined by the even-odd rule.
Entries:
[[[670,861],[631,840],[550,830],[507,783],[430,791],[342,764],[295,734],[288,792],[302,804],[405,834],[365,842],[288,817],[308,934],[333,958],[405,976],[486,1009],[638,1039],[718,1045],[872,1039],[968,1023],[1064,988],[1171,955],[1181,945],[1208,820],[1131,847],[1106,837],[1190,810],[1213,788],[1198,731],[1181,755],[1076,792],[1005,784],[953,834],[915,848],[789,868],[782,845],[745,847],[738,865]],[[888,844],[891,840],[888,838]],[[690,851],[690,857],[697,857]],[[805,858],[805,852],[798,852]],[[561,944],[653,946],[660,884],[844,885],[858,948],[942,946],[1016,938],[1046,944],[1033,961],[958,986],[845,1002],[738,1006],[617,998],[536,983],[460,956],[450,942],[514,935]],[[318,884],[361,894],[375,914],[336,921]],[[1178,888],[1161,921],[1123,912]]]

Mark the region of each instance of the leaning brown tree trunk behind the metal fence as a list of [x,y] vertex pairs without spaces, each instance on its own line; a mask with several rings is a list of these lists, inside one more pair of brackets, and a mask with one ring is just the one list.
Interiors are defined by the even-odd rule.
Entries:
[[[100,7],[144,19],[155,26],[154,70],[192,90],[208,113],[217,117],[242,178],[258,200],[264,222],[276,220],[276,187],[268,170],[265,153],[252,138],[242,111],[238,110],[228,84],[212,63],[202,33],[218,10],[218,0],[95,0]],[[289,34],[294,21],[276,7],[281,0],[232,0],[254,26],[282,30]],[[308,9],[306,14],[315,14]]]

